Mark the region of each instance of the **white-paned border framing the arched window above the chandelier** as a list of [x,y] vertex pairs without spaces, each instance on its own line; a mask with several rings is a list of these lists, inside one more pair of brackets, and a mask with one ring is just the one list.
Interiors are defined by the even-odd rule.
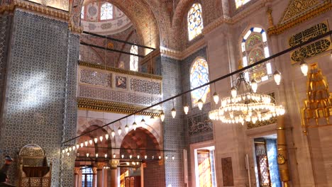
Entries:
[[[260,30],[260,32],[258,32]],[[250,39],[250,37],[252,37],[253,34],[257,35],[256,33],[260,33],[261,36],[261,42],[260,43],[256,43],[255,45],[253,45],[253,47],[248,47],[247,48],[247,41]],[[262,47],[260,47],[262,46]],[[241,62],[243,67],[246,67],[250,64],[253,64],[255,62],[250,63],[250,55],[252,54],[252,52],[254,50],[260,50],[262,52],[262,55],[264,55],[262,57],[262,59],[265,59],[267,57],[270,57],[270,47],[269,47],[269,43],[267,40],[267,32],[266,30],[262,27],[262,26],[250,26],[247,27],[241,37],[240,37],[240,56],[241,56]],[[264,69],[265,69],[265,76],[261,77],[261,79],[258,82],[265,82],[267,80],[270,80],[272,78],[272,65],[271,62],[265,62],[263,64],[260,64],[258,66],[262,66],[265,65]],[[245,71],[245,79],[248,81],[251,81],[253,78],[249,75],[248,71],[252,71],[254,72],[255,70],[252,70],[253,68],[250,68],[248,70]]]

